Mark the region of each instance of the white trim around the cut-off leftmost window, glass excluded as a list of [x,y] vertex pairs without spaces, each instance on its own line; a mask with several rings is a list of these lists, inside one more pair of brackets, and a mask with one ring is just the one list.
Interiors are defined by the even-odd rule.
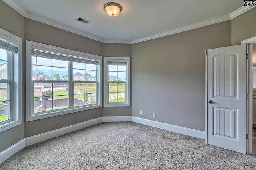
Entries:
[[0,28],[0,38],[18,45],[18,53],[13,57],[13,90],[11,101],[12,121],[0,126],[0,133],[22,124],[22,38]]

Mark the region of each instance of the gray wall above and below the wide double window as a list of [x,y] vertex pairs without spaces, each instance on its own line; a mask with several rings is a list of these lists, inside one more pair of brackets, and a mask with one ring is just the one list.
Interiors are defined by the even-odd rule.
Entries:
[[[25,18],[25,40],[102,56],[102,43]],[[25,80],[25,77],[24,77]],[[25,122],[25,137],[38,135],[102,116],[102,108]]]

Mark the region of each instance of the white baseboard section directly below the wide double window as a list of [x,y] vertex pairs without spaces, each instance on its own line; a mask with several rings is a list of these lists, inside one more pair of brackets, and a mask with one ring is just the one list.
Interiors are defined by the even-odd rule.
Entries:
[[92,125],[96,125],[98,123],[102,123],[102,117],[98,117],[96,119],[84,121],[84,122],[81,122],[81,123],[77,123],[77,124],[74,124],[74,125],[70,125],[70,126],[67,126],[67,127],[63,127],[63,128],[60,128],[60,129],[49,131],[49,132],[46,132],[46,133],[41,133],[41,134],[38,134],[38,135],[34,135],[32,137],[27,137],[27,138],[25,138],[25,141],[26,141],[25,145],[26,146],[33,145],[35,143],[46,141],[48,139],[52,139],[54,137],[58,137],[58,136],[61,136],[61,135],[65,135],[67,133],[74,132],[74,131],[77,131],[77,130],[80,130],[80,129],[83,129],[83,128],[86,128],[86,127],[89,127],[89,126],[92,126]]

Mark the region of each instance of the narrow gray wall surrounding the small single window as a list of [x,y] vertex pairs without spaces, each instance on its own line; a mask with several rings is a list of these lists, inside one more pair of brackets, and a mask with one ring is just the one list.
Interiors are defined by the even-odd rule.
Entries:
[[[103,43],[102,46],[103,46],[102,52],[104,57],[131,57],[131,63],[132,63],[132,45],[131,44]],[[104,70],[104,65],[103,65],[103,70]],[[104,71],[102,72],[102,74],[104,76]],[[130,79],[132,83],[132,71],[130,74]],[[104,87],[103,87],[102,96],[104,96]],[[132,106],[132,90],[130,91],[130,99],[131,99],[130,104]],[[104,103],[104,100],[103,100],[103,103]],[[102,110],[102,116],[131,116],[131,115],[132,115],[132,107],[104,107],[103,106],[103,110]]]

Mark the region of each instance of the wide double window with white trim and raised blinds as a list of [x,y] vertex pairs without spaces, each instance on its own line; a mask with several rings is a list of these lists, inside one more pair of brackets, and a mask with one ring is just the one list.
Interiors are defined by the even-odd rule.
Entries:
[[101,60],[27,41],[26,121],[101,107]]

